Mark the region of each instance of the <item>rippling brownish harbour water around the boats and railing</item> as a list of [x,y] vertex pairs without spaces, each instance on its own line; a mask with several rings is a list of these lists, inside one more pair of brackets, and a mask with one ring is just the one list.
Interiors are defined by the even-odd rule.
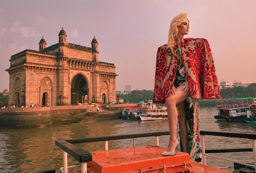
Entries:
[[[200,123],[203,131],[225,131],[256,133],[256,124],[246,122],[219,122],[214,119],[217,115],[215,107],[200,108]],[[59,125],[38,129],[0,129],[0,170],[1,173],[33,172],[45,169],[62,167],[62,150],[55,146],[55,140],[73,139],[83,137],[111,136],[120,134],[134,134],[145,132],[168,131],[168,120],[156,121],[130,121],[107,120],[104,122],[91,122],[85,124]],[[224,138],[206,136],[206,148],[249,148],[248,139]],[[160,136],[159,144],[167,147],[169,136]],[[154,145],[155,137],[136,138],[136,146]],[[104,142],[76,144],[88,151],[104,149]],[[109,149],[133,147],[133,139],[109,141]],[[221,154],[214,154],[221,156]],[[225,154],[239,161],[252,162],[253,154],[248,152]],[[223,155],[222,155],[223,157]],[[68,156],[69,165],[78,165],[77,161]],[[230,166],[232,163],[207,158],[210,166]]]

